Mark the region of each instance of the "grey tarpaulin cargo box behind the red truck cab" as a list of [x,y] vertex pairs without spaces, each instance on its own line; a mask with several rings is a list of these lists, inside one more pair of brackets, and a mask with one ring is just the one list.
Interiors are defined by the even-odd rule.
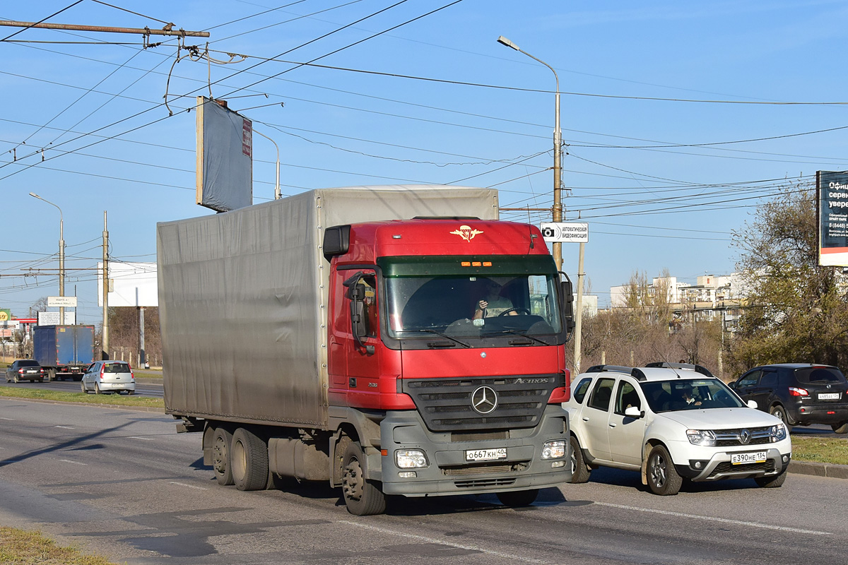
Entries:
[[158,224],[168,412],[326,427],[324,229],[416,216],[497,219],[498,192],[320,189]]

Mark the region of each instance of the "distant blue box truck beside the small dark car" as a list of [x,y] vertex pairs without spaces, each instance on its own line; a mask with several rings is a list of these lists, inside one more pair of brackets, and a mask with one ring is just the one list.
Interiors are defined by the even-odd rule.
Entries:
[[33,331],[32,346],[47,380],[82,380],[94,362],[94,326],[39,325]]

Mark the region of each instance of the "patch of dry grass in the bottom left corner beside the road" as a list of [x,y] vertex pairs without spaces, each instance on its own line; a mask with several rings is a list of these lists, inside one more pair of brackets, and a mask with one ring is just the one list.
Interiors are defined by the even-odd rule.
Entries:
[[8,565],[114,565],[75,547],[57,546],[41,532],[0,526],[0,563]]

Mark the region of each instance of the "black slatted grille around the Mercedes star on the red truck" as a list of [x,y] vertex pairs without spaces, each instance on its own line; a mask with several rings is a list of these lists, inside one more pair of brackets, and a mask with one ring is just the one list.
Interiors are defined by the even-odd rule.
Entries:
[[[415,379],[402,381],[401,390],[412,396],[432,431],[533,428],[550,393],[564,386],[561,381],[556,374]],[[471,406],[471,395],[481,386],[488,386],[497,396],[497,406],[490,413],[478,413]]]

